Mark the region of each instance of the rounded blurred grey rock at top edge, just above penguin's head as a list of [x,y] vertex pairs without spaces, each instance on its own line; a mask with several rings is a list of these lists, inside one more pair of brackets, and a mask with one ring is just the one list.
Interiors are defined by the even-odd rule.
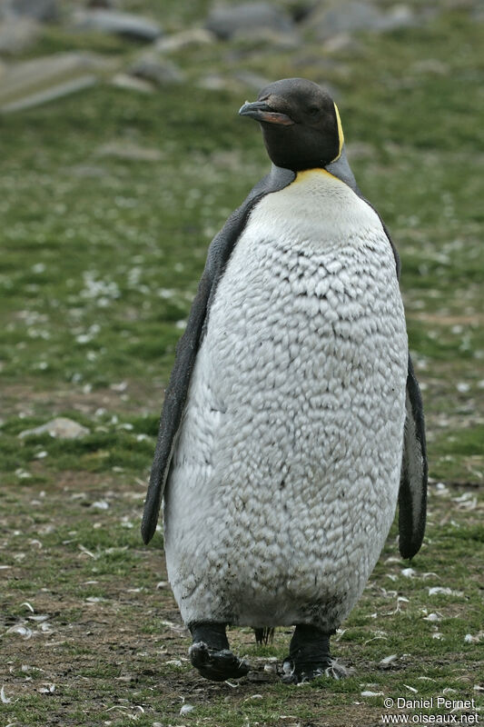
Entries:
[[238,31],[270,28],[291,33],[293,24],[289,15],[276,5],[264,2],[241,5],[216,5],[206,21],[206,27],[220,38],[231,38]]

